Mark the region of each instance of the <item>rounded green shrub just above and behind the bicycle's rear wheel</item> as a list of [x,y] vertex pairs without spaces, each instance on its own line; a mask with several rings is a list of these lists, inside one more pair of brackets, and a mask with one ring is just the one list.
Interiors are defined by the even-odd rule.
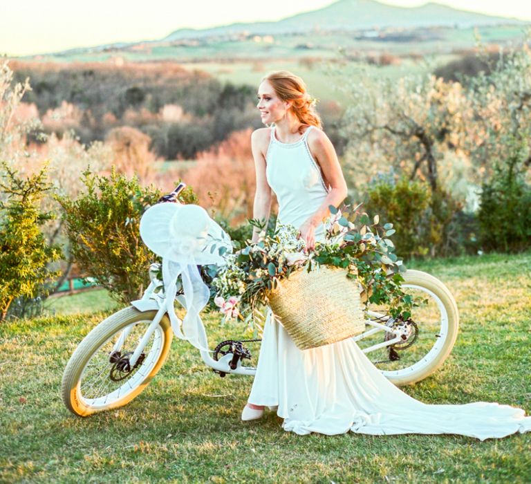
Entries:
[[404,259],[458,252],[455,223],[461,205],[442,189],[427,183],[380,176],[366,192],[366,209],[393,223],[396,253]]

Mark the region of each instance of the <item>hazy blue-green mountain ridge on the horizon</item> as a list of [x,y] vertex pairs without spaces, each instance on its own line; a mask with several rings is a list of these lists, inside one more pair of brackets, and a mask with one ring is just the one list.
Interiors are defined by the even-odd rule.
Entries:
[[[93,57],[84,58],[87,53],[117,53],[128,50],[140,52],[146,48],[165,50],[168,46],[174,48],[178,44],[184,47],[185,52],[179,55],[174,55],[176,54],[175,51],[164,52],[162,55],[156,55],[156,57],[158,59],[183,60],[192,56],[204,59],[212,56],[211,52],[203,52],[201,48],[198,49],[205,43],[209,46],[216,45],[222,48],[224,42],[230,41],[232,43],[230,47],[233,48],[234,41],[250,39],[254,35],[274,35],[275,37],[309,35],[317,46],[318,44],[326,44],[327,39],[325,37],[329,35],[340,34],[351,37],[352,32],[356,32],[357,39],[373,39],[380,36],[382,30],[394,30],[398,31],[398,35],[404,35],[404,31],[407,30],[445,28],[455,31],[457,29],[470,30],[474,27],[490,26],[492,28],[492,26],[497,25],[516,28],[516,26],[523,24],[525,22],[517,19],[492,17],[476,12],[457,10],[439,3],[426,3],[420,7],[404,8],[386,5],[376,0],[339,0],[324,8],[303,12],[280,21],[239,23],[197,30],[181,28],[171,32],[166,37],[153,41],[141,41],[139,39],[139,41],[131,43],[117,42],[90,48],[74,48],[48,55],[50,57],[72,57],[86,62],[96,60]],[[412,39],[413,41],[418,41],[416,34],[413,37],[415,37]],[[340,44],[343,43],[342,40]],[[191,47],[193,49],[190,49]],[[191,53],[189,50],[194,50],[194,52]],[[273,51],[268,54],[268,57],[285,57],[286,52]],[[321,56],[322,53],[317,53],[317,55]],[[217,53],[214,57],[217,57]],[[236,55],[236,57],[240,56]],[[252,55],[245,57],[252,57]]]

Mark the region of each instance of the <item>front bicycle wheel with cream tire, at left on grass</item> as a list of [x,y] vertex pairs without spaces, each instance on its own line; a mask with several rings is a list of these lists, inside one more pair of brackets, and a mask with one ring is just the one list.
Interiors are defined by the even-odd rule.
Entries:
[[[169,353],[173,331],[167,315],[149,338],[137,364],[128,366],[128,358],[155,315],[154,310],[124,308],[86,335],[63,374],[62,397],[68,410],[86,417],[122,407],[147,387]],[[120,338],[122,344],[116,351]]]

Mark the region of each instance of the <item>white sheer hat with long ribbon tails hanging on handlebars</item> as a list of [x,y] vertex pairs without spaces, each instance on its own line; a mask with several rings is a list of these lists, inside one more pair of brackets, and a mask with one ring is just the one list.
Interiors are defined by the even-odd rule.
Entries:
[[[203,207],[178,203],[149,207],[140,220],[140,236],[149,249],[162,257],[166,308],[176,337],[209,351],[199,314],[207,305],[210,292],[198,266],[223,265],[223,253],[232,252],[229,236]],[[174,308],[179,276],[187,310],[183,321]]]

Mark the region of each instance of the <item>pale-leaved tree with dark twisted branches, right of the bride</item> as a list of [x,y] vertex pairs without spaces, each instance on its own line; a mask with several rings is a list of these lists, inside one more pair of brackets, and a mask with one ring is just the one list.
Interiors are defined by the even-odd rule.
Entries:
[[472,113],[463,87],[434,75],[393,81],[366,77],[351,85],[344,118],[350,140],[346,171],[360,185],[381,171],[441,185],[441,165],[449,151],[460,155]]

